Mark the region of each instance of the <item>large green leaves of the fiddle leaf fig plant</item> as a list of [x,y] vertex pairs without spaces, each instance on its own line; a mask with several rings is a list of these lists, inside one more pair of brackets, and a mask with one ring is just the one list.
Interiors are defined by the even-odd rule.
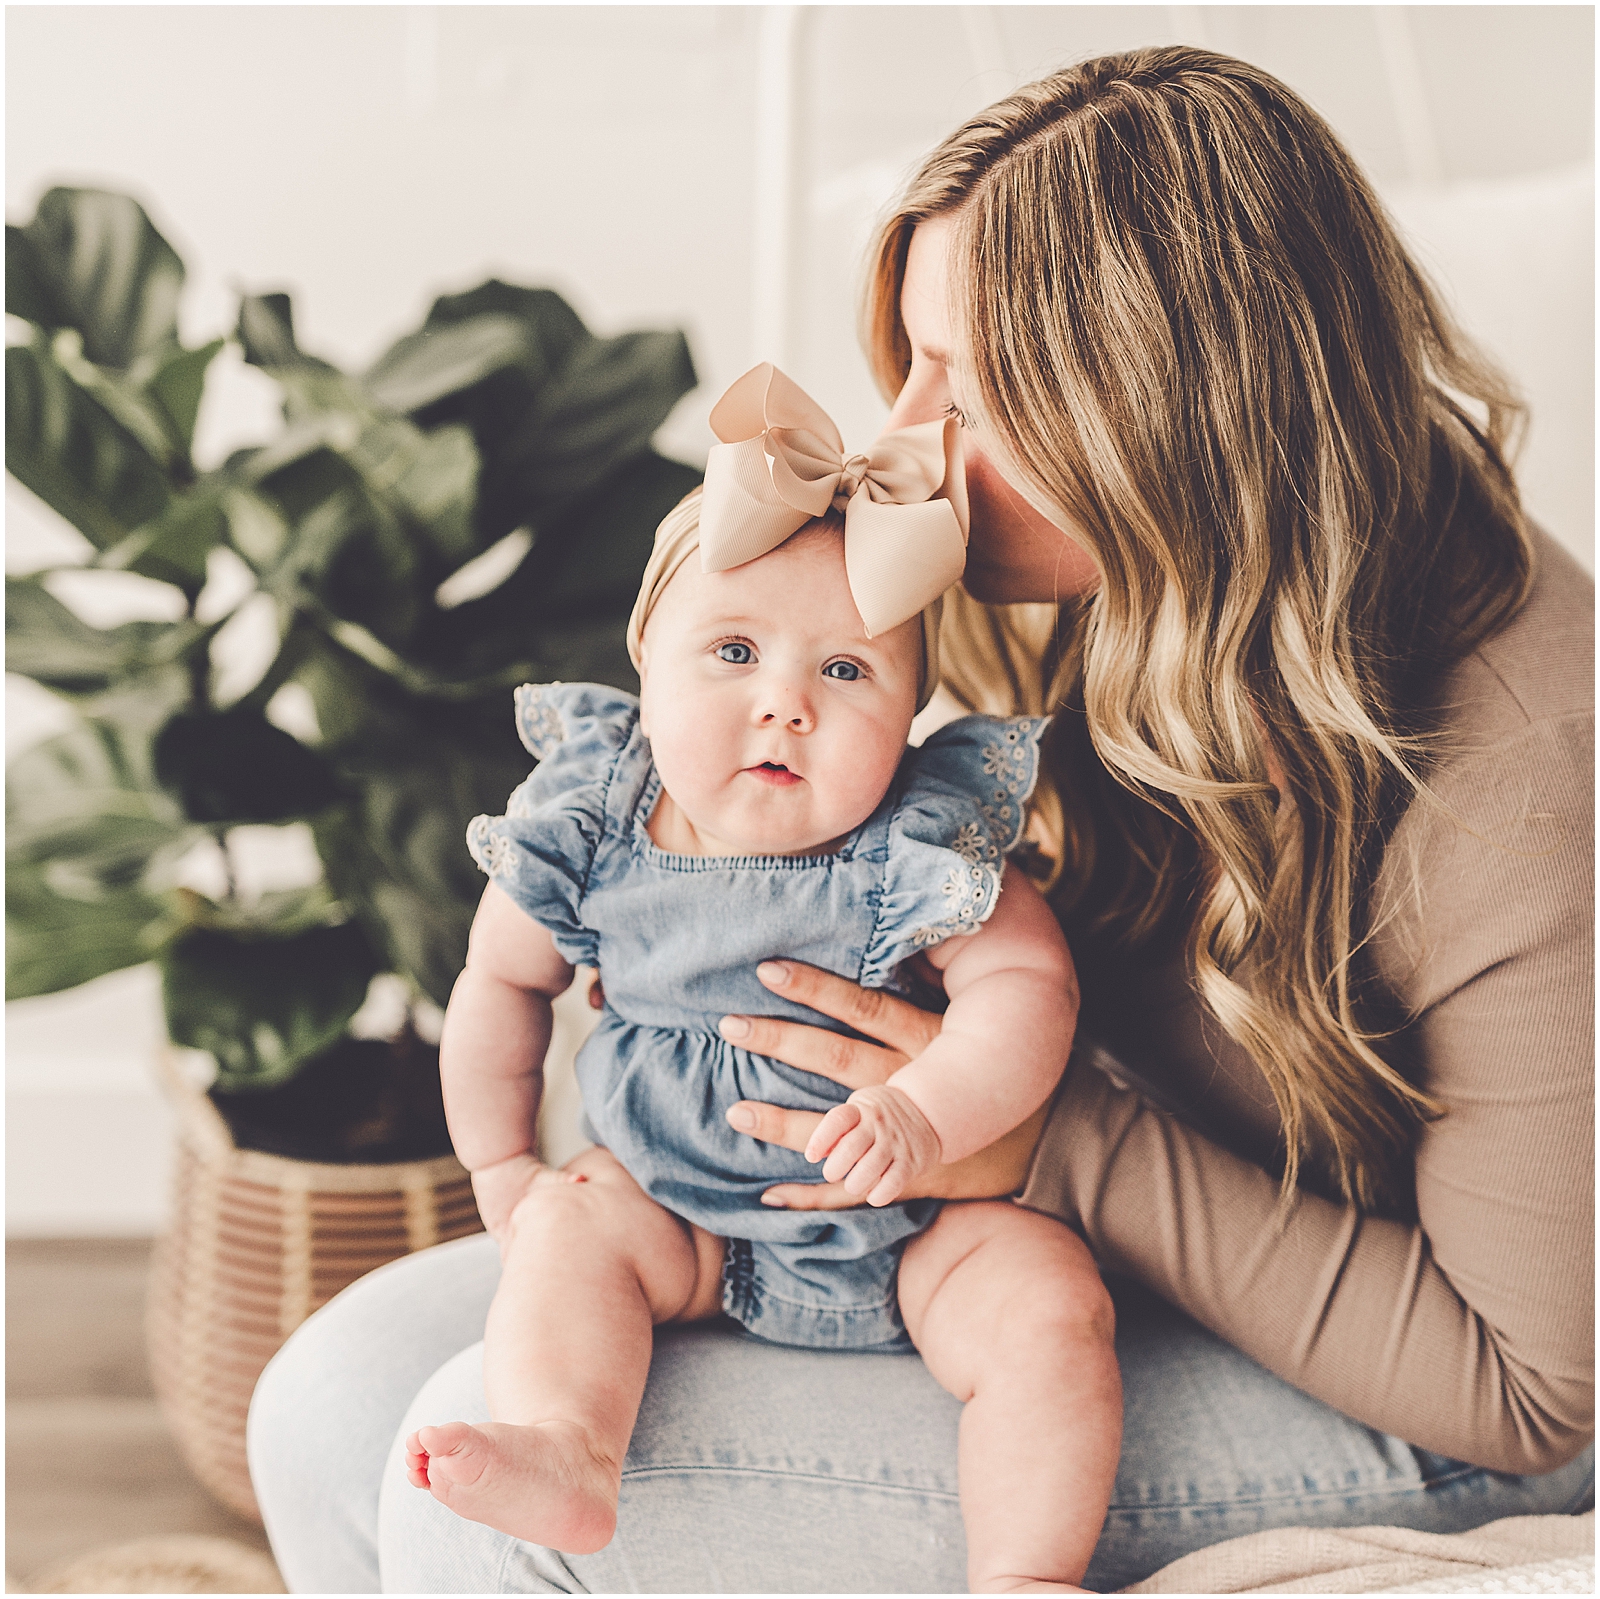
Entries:
[[[699,479],[651,437],[694,370],[682,333],[598,338],[552,290],[494,280],[365,373],[302,351],[282,293],[190,347],[182,285],[128,195],[51,189],[6,227],[6,471],[83,535],[80,570],[176,591],[173,621],[99,627],[64,568],[6,579],[8,669],[72,711],[6,773],[6,994],[155,960],[173,1040],[229,1095],[325,1064],[374,975],[448,999],[482,892],[466,824],[526,773],[510,688],[635,682],[634,589]],[[202,469],[229,343],[283,424]],[[221,607],[219,560],[250,578]],[[472,581],[488,565],[499,581]],[[277,643],[224,699],[218,635],[246,603]],[[288,685],[315,733],[278,725]],[[309,829],[320,880],[240,890],[242,828]],[[192,885],[208,852],[219,893]]]

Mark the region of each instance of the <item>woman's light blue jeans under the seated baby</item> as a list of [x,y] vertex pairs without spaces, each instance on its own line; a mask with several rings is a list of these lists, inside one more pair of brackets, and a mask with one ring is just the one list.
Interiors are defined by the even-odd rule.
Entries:
[[[256,1388],[250,1469],[291,1593],[965,1593],[960,1405],[907,1354],[662,1328],[616,1538],[539,1549],[405,1479],[416,1426],[486,1420],[499,1253],[477,1236],[363,1277]],[[1510,1477],[1427,1455],[1290,1388],[1147,1290],[1114,1282],[1122,1465],[1088,1585],[1138,1581],[1269,1527],[1464,1532],[1587,1509],[1594,1449]]]

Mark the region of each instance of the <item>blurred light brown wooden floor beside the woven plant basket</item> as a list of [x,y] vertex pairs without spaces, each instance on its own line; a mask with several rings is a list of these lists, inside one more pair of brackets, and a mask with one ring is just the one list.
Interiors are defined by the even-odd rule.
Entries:
[[130,1538],[210,1533],[266,1549],[162,1425],[144,1357],[149,1240],[10,1240],[5,1564],[24,1586]]

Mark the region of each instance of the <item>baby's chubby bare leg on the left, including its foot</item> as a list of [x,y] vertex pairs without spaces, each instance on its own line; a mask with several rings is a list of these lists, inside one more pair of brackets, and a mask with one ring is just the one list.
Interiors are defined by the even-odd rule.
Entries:
[[408,1474],[469,1521],[592,1554],[616,1530],[651,1328],[722,1308],[723,1244],[589,1149],[528,1189],[501,1255],[483,1333],[494,1420],[419,1428]]

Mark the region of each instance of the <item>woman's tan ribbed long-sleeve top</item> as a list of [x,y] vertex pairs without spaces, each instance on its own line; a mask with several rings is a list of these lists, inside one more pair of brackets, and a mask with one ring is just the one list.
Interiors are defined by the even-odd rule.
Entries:
[[1419,1220],[1301,1189],[1280,1223],[1272,1096],[1181,965],[1085,989],[1117,1077],[1078,1056],[1022,1194],[1296,1388],[1510,1473],[1594,1436],[1594,584],[1544,535],[1534,559],[1445,683],[1427,781],[1467,826],[1413,802],[1374,890],[1379,975],[1446,1106]]

